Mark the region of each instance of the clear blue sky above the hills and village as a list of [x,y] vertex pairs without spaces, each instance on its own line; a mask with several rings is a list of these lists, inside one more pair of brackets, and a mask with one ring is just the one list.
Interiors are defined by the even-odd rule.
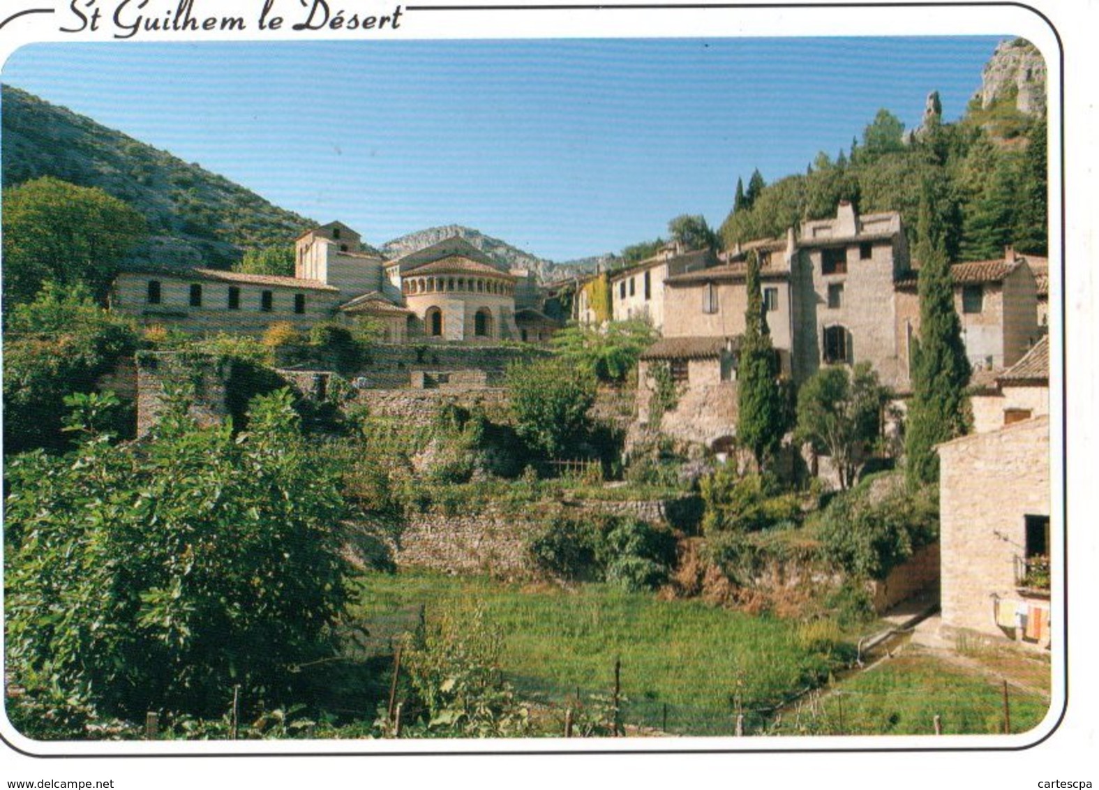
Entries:
[[879,108],[956,120],[1000,37],[36,44],[5,82],[374,244],[465,224],[618,252],[736,178],[835,156]]

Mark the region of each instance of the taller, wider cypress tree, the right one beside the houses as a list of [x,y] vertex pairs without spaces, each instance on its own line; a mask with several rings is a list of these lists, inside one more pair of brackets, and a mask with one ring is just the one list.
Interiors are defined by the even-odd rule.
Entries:
[[924,181],[920,196],[920,338],[912,349],[912,400],[906,433],[906,475],[911,485],[939,479],[935,445],[966,433],[969,403],[965,388],[973,372],[954,310],[954,286],[939,221],[934,190]]

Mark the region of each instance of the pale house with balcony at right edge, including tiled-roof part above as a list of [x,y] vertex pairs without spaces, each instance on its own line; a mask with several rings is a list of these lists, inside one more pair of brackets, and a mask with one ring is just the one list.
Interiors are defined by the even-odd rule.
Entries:
[[937,447],[942,622],[1048,647],[1048,341],[972,398],[974,433]]

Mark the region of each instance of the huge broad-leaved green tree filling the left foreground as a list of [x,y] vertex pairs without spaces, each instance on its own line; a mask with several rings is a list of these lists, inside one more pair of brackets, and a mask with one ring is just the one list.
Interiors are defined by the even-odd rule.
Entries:
[[9,460],[7,666],[30,697],[221,714],[234,685],[278,704],[298,664],[330,655],[345,509],[290,401],[256,399],[234,438],[176,393],[147,442]]

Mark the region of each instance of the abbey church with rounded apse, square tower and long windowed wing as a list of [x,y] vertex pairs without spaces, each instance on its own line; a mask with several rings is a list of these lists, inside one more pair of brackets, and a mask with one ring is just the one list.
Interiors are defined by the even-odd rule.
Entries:
[[559,326],[541,312],[533,272],[509,271],[457,236],[386,260],[354,230],[330,222],[298,237],[295,266],[295,277],[133,268],[115,280],[111,307],[146,325],[195,333],[368,320],[389,343],[544,342]]

